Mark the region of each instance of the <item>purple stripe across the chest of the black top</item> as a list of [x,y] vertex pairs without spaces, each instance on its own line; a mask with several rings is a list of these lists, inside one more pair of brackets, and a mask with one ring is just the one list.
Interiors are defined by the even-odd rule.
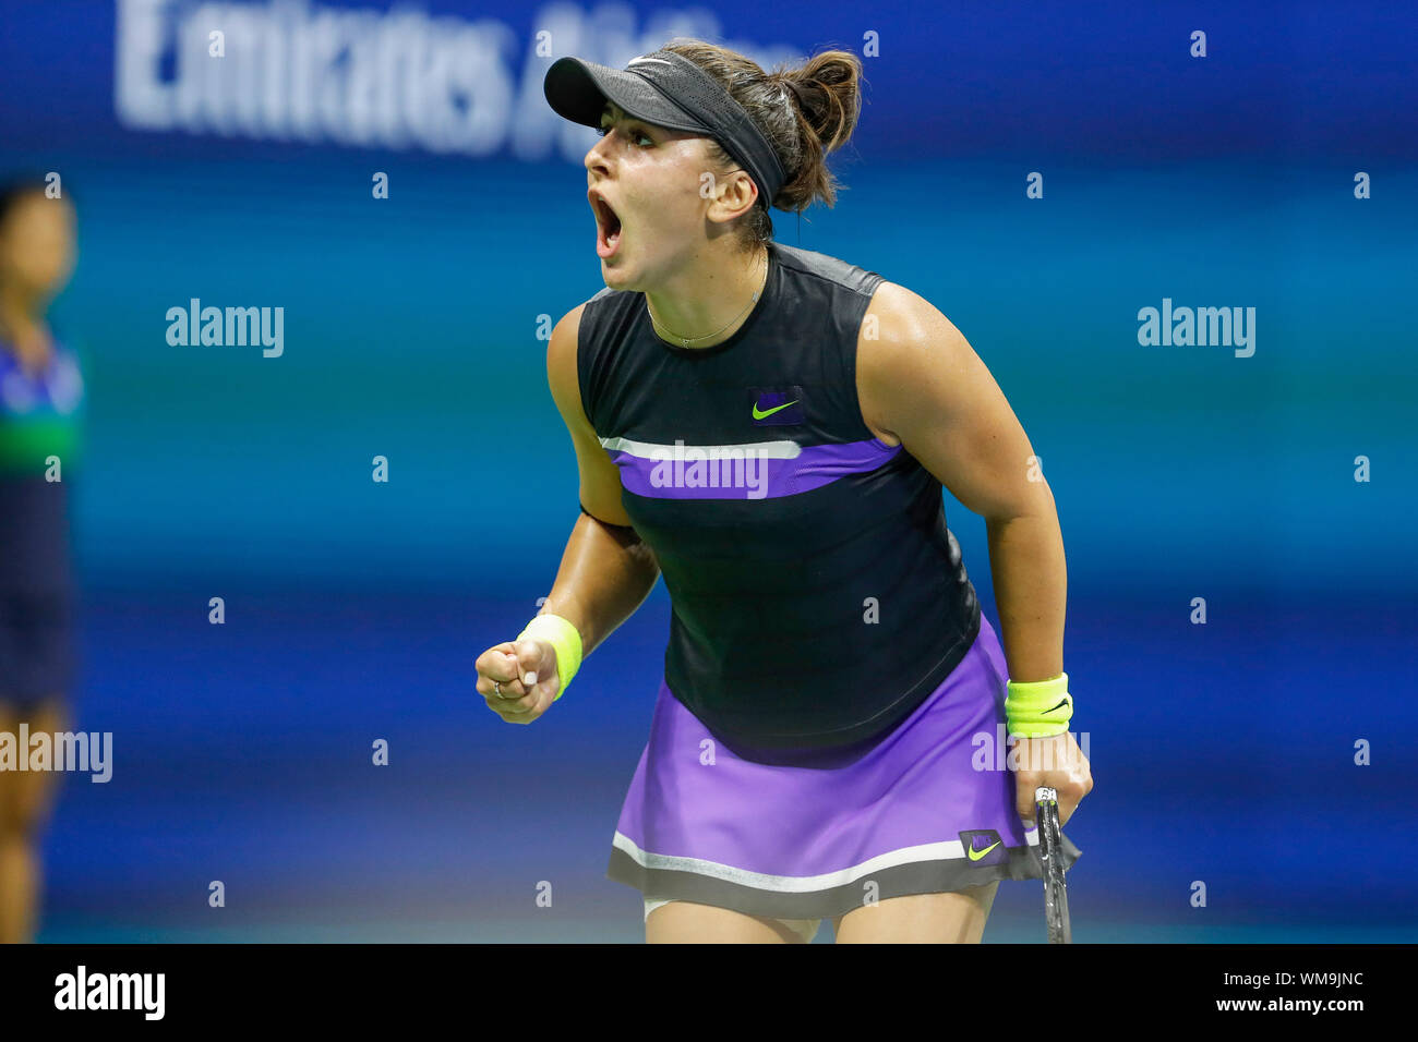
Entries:
[[[759,442],[763,444],[763,442]],[[781,442],[778,442],[781,444]],[[881,438],[838,445],[804,445],[790,459],[770,458],[756,445],[662,445],[654,455],[607,449],[621,485],[649,499],[776,499],[828,485],[849,474],[869,474],[902,451]],[[740,449],[737,458],[725,449]],[[647,447],[641,447],[647,451]],[[778,455],[778,454],[773,454]]]

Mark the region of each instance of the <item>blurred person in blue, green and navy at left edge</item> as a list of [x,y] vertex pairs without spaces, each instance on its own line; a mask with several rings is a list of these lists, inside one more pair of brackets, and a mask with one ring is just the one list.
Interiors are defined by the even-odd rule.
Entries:
[[[11,743],[21,723],[64,730],[72,672],[68,483],[84,381],[45,320],[72,268],[68,200],[47,198],[43,180],[0,187],[0,734]],[[54,774],[4,767],[0,943],[17,943],[34,934],[35,844]]]

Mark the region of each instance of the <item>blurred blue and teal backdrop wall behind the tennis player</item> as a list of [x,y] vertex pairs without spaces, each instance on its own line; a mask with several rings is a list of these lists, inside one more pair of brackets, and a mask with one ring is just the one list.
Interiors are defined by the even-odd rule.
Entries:
[[[170,33],[196,7],[121,9]],[[6,4],[0,169],[57,170],[79,207],[52,312],[89,357],[75,705],[116,746],[109,784],[65,780],[44,939],[642,937],[638,896],[603,872],[664,588],[533,727],[472,690],[577,513],[537,323],[603,284],[577,159],[594,135],[537,105],[552,58],[532,41],[554,26],[553,58],[615,65],[676,31],[763,55],[878,34],[834,160],[848,190],[776,213],[777,235],[936,303],[1042,458],[1098,785],[1068,829],[1079,940],[1414,940],[1412,16],[418,10],[501,41],[502,75],[475,85],[512,101],[472,91],[496,128],[476,149],[138,129],[115,112],[115,9]],[[284,356],[169,346],[166,310],[193,296],[284,306]],[[1254,306],[1255,354],[1140,346],[1137,310],[1163,298]],[[949,495],[947,515],[997,624],[984,523]],[[1038,896],[1003,887],[987,940],[1039,939]]]

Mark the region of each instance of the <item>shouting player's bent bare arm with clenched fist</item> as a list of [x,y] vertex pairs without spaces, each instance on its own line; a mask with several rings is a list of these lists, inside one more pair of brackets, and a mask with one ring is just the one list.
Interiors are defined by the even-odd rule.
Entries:
[[[583,658],[630,618],[659,578],[654,551],[630,526],[621,506],[620,469],[601,448],[581,405],[576,347],[580,305],[556,323],[546,352],[552,398],[571,435],[586,512],[562,553],[562,567],[542,612],[560,615],[581,635]],[[530,679],[535,676],[535,679]],[[502,682],[499,698],[493,680]],[[505,641],[478,656],[478,693],[508,723],[532,723],[556,698],[556,652],[545,641]]]

